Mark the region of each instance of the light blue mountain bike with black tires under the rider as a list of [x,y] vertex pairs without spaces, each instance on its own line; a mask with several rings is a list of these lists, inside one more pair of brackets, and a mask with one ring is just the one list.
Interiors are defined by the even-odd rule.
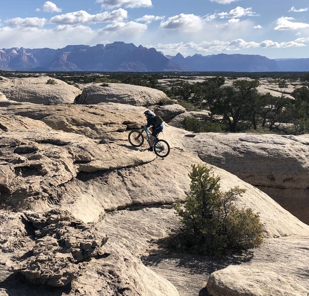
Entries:
[[[134,129],[129,133],[128,140],[132,146],[140,147],[143,145],[143,132],[146,133],[146,140],[150,146],[150,131],[145,126],[143,126],[140,130]],[[156,136],[153,143],[153,151],[156,153],[156,155],[160,157],[166,157],[169,155],[171,148],[168,142],[165,140],[159,140],[158,136]]]

